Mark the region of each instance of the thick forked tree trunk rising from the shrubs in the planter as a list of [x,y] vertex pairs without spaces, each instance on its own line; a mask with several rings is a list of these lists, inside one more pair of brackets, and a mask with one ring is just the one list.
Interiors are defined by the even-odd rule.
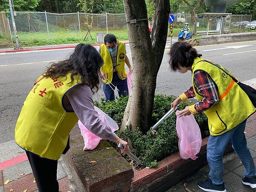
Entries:
[[[134,73],[121,130],[128,125],[132,131],[140,127],[145,133],[151,127],[157,73],[166,44],[170,5],[169,0],[156,1],[152,42],[145,0],[124,0],[124,6]],[[131,20],[136,20],[136,23],[129,22]]]

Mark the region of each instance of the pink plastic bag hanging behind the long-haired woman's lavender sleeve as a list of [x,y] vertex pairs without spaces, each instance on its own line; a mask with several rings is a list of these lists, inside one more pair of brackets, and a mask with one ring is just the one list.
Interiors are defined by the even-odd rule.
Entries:
[[[98,112],[99,119],[103,122],[105,122],[112,131],[118,130],[118,125],[116,122],[108,116],[106,113],[101,111],[99,108],[94,107],[95,110]],[[102,140],[102,138],[96,136],[95,134],[91,133],[79,120],[78,121],[79,128],[81,130],[81,135],[84,138],[84,151],[86,150],[93,150],[96,148],[96,146],[99,144],[99,141]]]

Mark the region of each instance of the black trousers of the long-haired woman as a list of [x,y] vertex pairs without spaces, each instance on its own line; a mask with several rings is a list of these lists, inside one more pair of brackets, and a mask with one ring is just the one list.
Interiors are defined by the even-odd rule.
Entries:
[[42,158],[29,151],[26,151],[26,155],[28,156],[39,192],[58,192],[58,160]]

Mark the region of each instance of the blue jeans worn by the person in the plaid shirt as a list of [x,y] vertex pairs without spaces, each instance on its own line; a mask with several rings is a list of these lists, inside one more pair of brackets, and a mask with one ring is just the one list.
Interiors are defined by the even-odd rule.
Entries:
[[223,183],[224,166],[222,158],[228,142],[232,144],[233,149],[245,167],[244,176],[252,177],[256,175],[253,158],[247,147],[247,141],[244,135],[245,124],[246,120],[224,134],[209,137],[207,143],[207,161],[210,167],[209,178],[213,184],[220,185]]

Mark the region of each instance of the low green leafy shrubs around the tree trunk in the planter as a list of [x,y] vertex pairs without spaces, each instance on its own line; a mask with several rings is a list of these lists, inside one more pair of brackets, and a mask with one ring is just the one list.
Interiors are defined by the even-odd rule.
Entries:
[[[175,98],[173,96],[155,95],[152,113],[152,126],[170,110],[170,105],[174,100]],[[112,102],[105,102],[102,98],[101,102],[95,102],[95,105],[111,116],[111,118],[121,126],[127,101],[128,96],[121,97]],[[182,102],[178,109],[182,110],[191,104],[193,103]],[[202,138],[209,136],[207,117],[204,113],[196,115],[195,119],[201,130]],[[130,128],[126,128],[122,134],[120,134],[120,131],[116,131],[116,134],[121,138],[127,137],[131,141],[133,146],[131,151],[139,157],[140,160],[142,160],[143,166],[157,166],[157,161],[178,151],[175,113],[169,116],[168,119],[164,120],[163,124],[157,128],[157,135],[154,135],[151,130],[146,134],[143,134],[140,128],[138,128],[134,133]],[[111,142],[111,145],[116,148],[115,143]]]

